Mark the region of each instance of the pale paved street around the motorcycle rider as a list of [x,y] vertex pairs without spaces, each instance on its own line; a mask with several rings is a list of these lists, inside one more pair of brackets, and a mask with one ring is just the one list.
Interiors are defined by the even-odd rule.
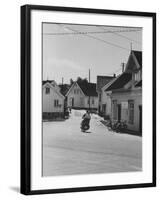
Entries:
[[83,113],[72,110],[68,120],[43,122],[44,176],[142,170],[141,137],[108,131],[95,114],[82,133]]

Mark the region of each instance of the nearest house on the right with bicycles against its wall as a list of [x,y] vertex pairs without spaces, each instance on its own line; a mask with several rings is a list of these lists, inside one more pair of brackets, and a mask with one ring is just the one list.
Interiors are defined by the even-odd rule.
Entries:
[[107,87],[112,120],[124,120],[129,130],[142,132],[142,52],[131,51],[126,69]]

